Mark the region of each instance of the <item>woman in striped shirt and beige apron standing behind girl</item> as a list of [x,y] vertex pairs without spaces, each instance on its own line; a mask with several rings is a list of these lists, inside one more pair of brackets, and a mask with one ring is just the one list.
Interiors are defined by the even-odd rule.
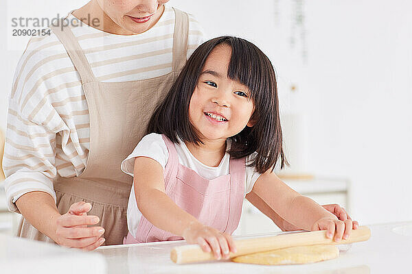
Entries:
[[30,40],[3,162],[8,206],[24,216],[19,236],[86,250],[122,243],[132,180],[120,163],[203,39],[166,2],[91,0]]

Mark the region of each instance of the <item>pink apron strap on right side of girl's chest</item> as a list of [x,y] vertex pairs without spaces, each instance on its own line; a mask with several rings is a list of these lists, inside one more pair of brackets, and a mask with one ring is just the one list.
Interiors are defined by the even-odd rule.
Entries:
[[229,162],[230,196],[229,218],[225,232],[232,234],[239,225],[244,199],[244,185],[246,177],[245,158],[232,159]]

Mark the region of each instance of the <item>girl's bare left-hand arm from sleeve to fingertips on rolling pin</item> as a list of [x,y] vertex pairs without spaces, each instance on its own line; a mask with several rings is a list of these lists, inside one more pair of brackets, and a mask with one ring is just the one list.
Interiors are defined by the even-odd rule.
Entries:
[[221,256],[229,258],[229,250],[236,252],[229,235],[203,225],[165,194],[163,168],[159,162],[146,157],[135,158],[133,177],[137,207],[150,223],[183,236],[189,243],[197,243],[205,252],[213,250],[218,260]]

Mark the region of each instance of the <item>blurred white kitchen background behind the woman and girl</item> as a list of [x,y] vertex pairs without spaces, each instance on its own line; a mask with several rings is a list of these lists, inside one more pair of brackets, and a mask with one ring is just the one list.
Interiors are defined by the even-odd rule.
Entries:
[[[60,18],[87,0],[0,3],[0,129],[27,36],[12,18]],[[412,1],[171,0],[205,39],[247,38],[277,71],[286,183],[361,225],[412,220]],[[45,8],[47,7],[47,8]],[[0,134],[1,143],[1,134]],[[0,145],[1,147],[1,145]],[[1,153],[2,149],[0,149]],[[0,231],[12,233],[0,173]],[[245,203],[240,234],[275,227]]]

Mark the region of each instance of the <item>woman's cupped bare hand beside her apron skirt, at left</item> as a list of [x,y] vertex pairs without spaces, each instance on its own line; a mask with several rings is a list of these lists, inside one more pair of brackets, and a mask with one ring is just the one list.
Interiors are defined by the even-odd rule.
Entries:
[[87,215],[91,210],[90,203],[80,201],[73,203],[66,214],[56,219],[56,238],[58,245],[93,250],[103,244],[103,227],[88,227],[99,223],[99,217]]

